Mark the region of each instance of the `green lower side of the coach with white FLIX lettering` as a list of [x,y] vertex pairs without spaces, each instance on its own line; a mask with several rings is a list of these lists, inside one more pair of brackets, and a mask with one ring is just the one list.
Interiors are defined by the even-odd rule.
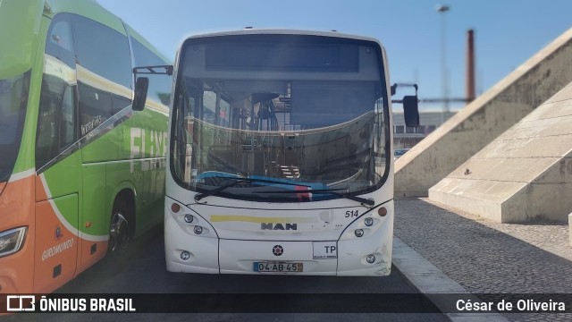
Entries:
[[[162,220],[166,122],[156,111],[135,113],[44,172],[52,197],[80,194],[83,206],[75,227],[81,232],[109,233],[113,202],[122,190],[136,196],[138,232]],[[68,216],[65,211],[62,215]]]

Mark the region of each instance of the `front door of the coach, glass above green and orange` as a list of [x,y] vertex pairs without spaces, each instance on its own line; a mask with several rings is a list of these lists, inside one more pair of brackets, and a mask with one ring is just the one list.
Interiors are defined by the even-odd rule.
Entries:
[[76,273],[80,247],[77,81],[67,15],[51,21],[43,56],[35,148],[34,292],[52,292],[69,281]]

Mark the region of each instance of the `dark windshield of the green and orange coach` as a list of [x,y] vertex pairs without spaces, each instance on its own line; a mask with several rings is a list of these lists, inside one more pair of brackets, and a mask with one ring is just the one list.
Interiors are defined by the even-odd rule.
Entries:
[[0,182],[7,182],[20,149],[29,72],[0,80]]

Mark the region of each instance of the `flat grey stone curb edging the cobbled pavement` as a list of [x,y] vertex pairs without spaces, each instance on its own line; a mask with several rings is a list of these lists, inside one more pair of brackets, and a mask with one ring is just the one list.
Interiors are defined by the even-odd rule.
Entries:
[[[450,279],[441,269],[435,267],[397,236],[393,236],[391,262],[419,292],[427,295],[431,295],[432,293],[470,294],[461,284]],[[435,301],[436,299],[432,296],[427,296],[427,298],[441,311],[450,307],[447,306],[446,303]],[[478,301],[478,298],[475,297],[475,301]],[[509,321],[499,313],[443,313],[443,315],[453,322]]]

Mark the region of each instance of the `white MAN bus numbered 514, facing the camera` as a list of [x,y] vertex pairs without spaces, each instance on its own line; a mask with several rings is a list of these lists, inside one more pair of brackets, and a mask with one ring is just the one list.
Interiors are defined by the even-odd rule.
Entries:
[[[390,274],[392,89],[378,41],[292,30],[195,36],[173,77],[169,271]],[[137,90],[144,97],[144,81]],[[416,96],[403,102],[418,125]]]

